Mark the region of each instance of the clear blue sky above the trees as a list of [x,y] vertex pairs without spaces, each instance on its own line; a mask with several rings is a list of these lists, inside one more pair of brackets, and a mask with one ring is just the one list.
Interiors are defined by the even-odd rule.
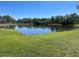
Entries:
[[0,1],[0,15],[19,18],[50,18],[77,13],[77,1]]

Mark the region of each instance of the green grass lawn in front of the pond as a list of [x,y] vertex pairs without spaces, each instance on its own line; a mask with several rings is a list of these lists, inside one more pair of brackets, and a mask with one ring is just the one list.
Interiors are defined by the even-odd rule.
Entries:
[[1,29],[0,56],[79,56],[79,29],[28,36]]

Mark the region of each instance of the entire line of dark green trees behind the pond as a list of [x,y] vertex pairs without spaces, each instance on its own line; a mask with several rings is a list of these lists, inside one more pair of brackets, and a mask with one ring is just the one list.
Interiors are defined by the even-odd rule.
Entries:
[[0,23],[24,23],[29,25],[73,25],[79,24],[79,16],[76,13],[65,16],[52,16],[50,18],[22,18],[14,19],[9,15],[0,16]]

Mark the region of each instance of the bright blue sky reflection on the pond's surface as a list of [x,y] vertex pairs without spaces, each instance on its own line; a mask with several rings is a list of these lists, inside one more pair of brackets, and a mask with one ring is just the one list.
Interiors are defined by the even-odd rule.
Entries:
[[16,26],[15,30],[23,35],[43,34],[43,33],[51,32],[51,30],[49,30],[49,28],[39,28],[39,27],[21,27],[21,28],[19,28],[18,26]]

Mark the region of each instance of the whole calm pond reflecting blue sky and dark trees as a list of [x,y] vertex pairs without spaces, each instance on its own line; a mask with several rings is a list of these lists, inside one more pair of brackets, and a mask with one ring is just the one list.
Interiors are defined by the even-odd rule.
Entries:
[[77,27],[55,27],[55,26],[26,26],[26,25],[4,25],[0,26],[3,29],[14,29],[22,35],[37,35],[46,34],[51,32],[62,32],[72,29],[77,29]]

